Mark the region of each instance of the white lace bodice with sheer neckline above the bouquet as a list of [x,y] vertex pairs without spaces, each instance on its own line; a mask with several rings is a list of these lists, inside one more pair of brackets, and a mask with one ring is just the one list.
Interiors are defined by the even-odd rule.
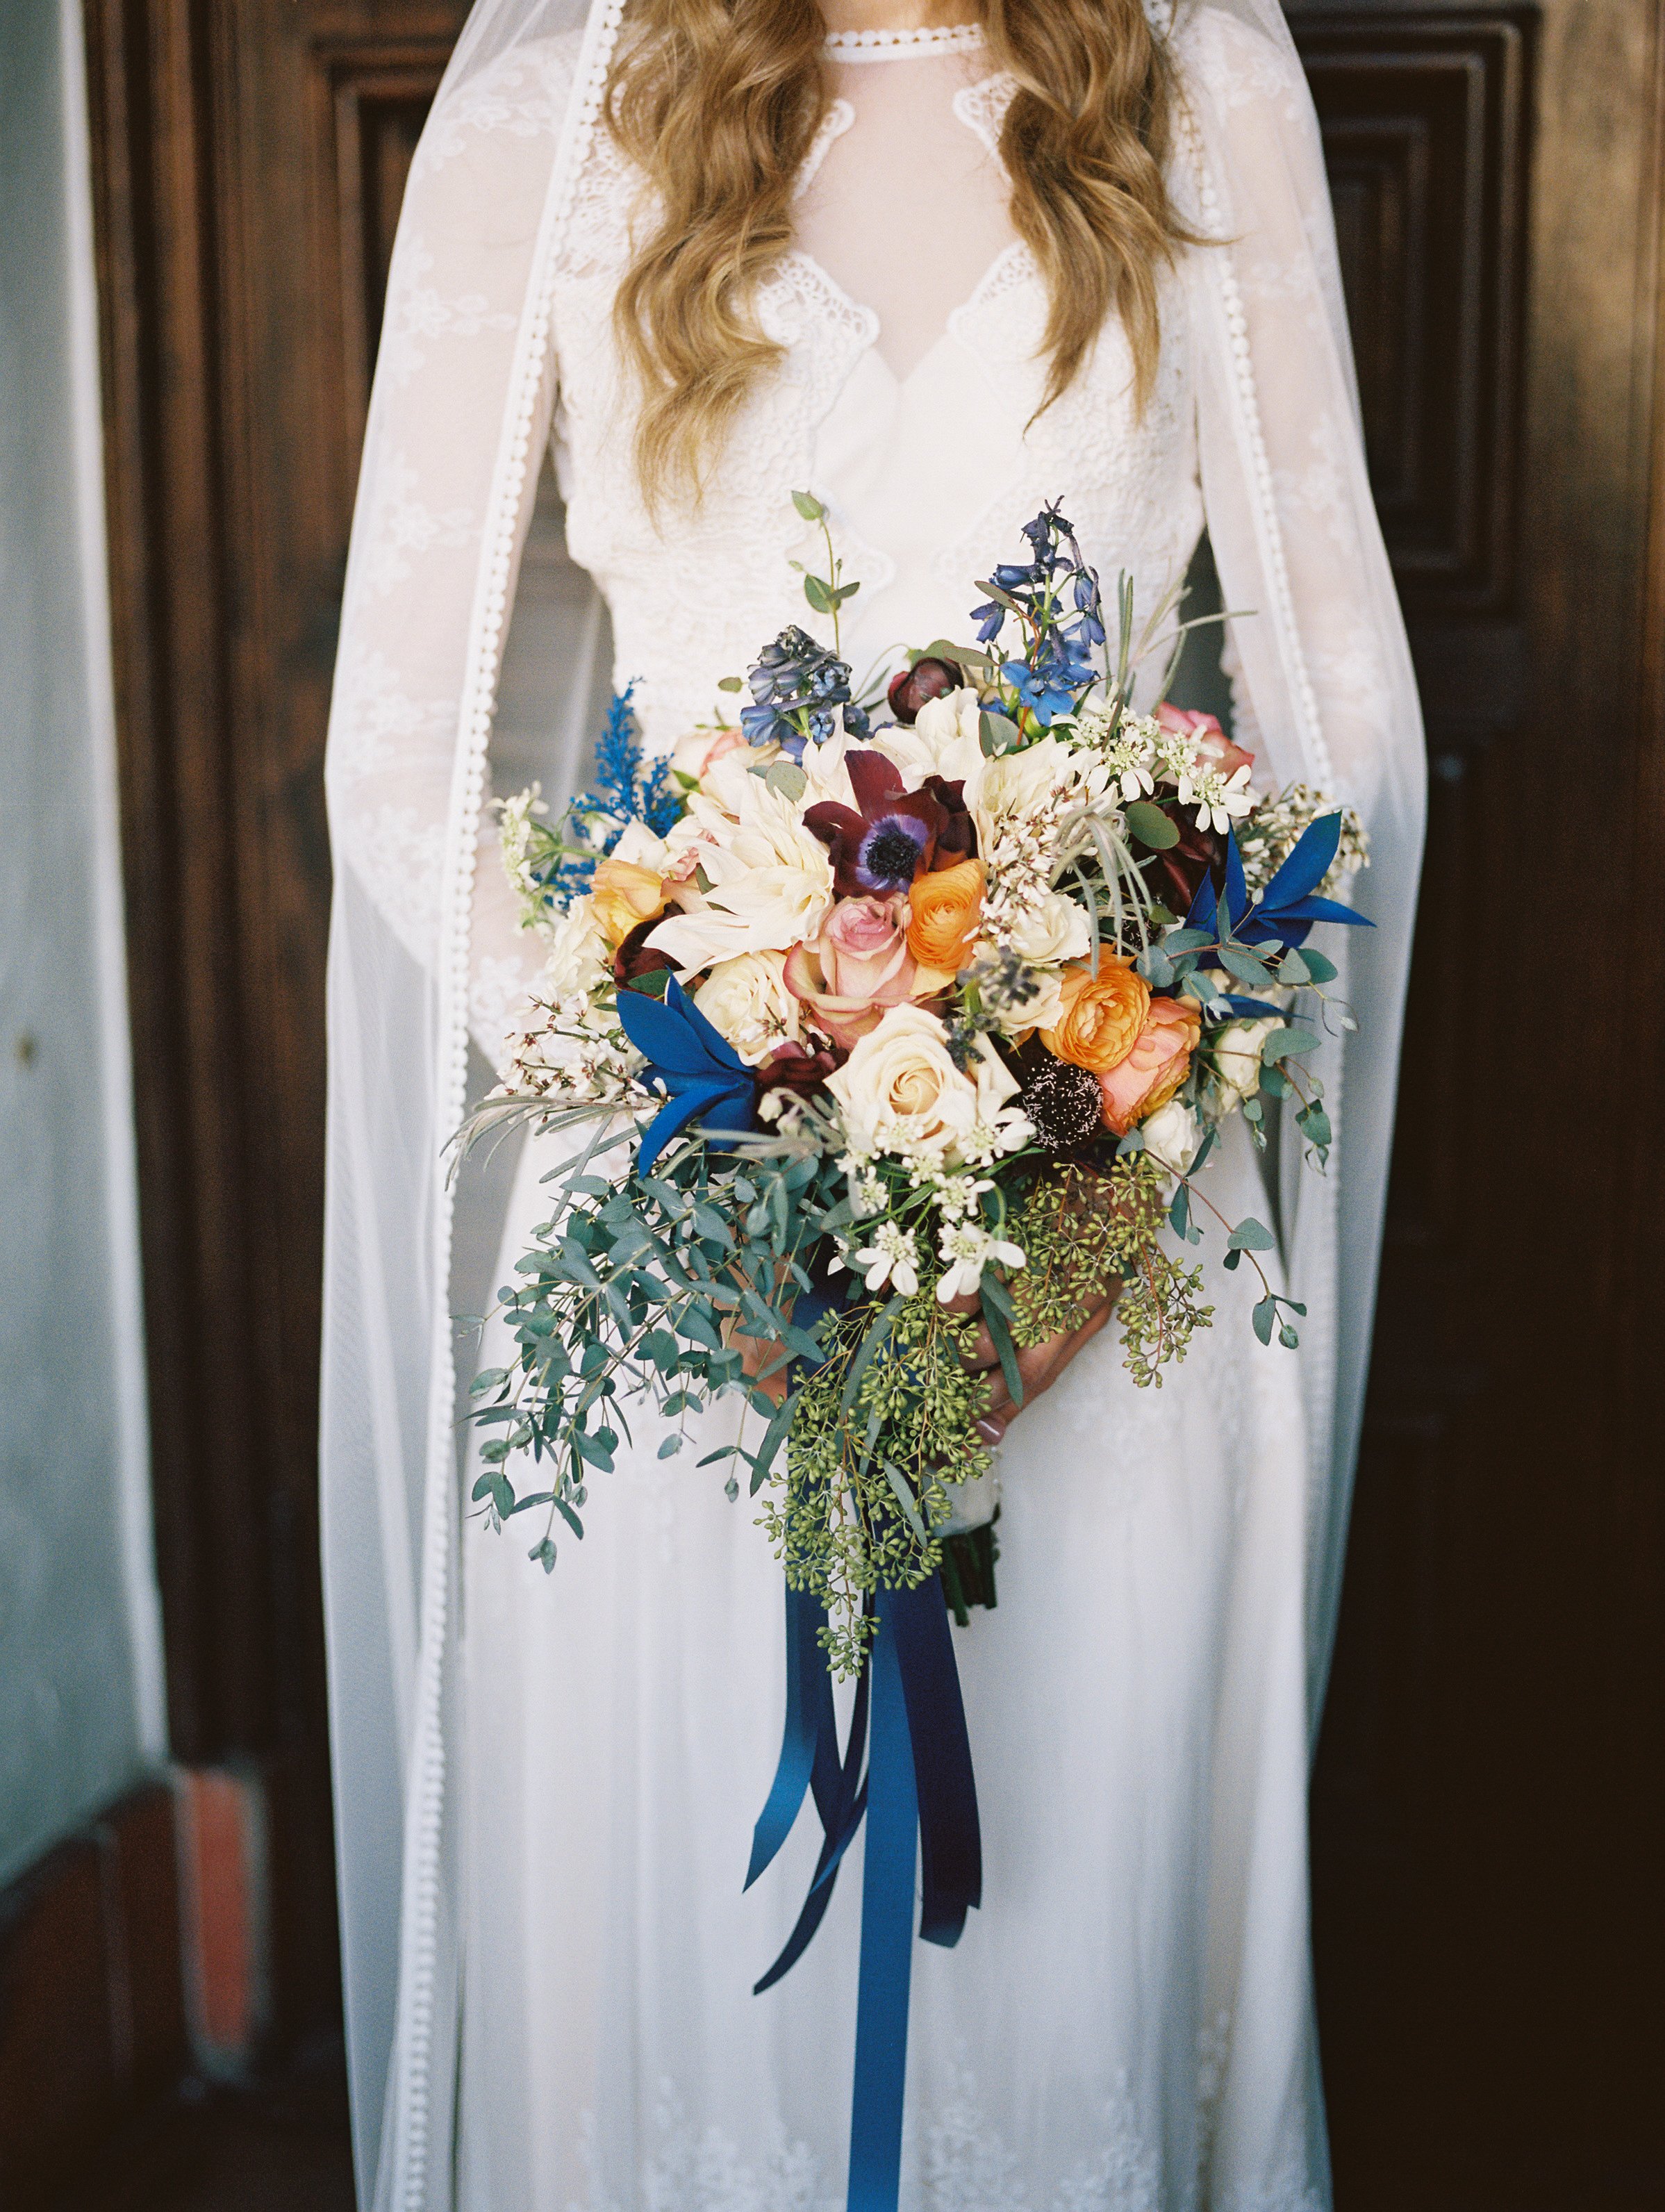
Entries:
[[[800,179],[798,246],[756,312],[783,347],[721,456],[703,507],[652,518],[632,460],[630,378],[612,296],[639,184],[597,146],[555,290],[557,469],[573,557],[612,611],[615,675],[637,684],[648,741],[670,745],[732,699],[758,646],[807,615],[789,562],[831,509],[847,577],[845,653],[862,677],[900,646],[966,633],[975,580],[1061,498],[1081,544],[1141,599],[1176,580],[1203,524],[1185,294],[1170,281],[1143,414],[1112,323],[1070,392],[1037,416],[1046,290],[1010,230],[997,135],[1008,80],[975,40],[831,53],[836,100]],[[889,204],[893,221],[876,219]],[[834,274],[836,270],[836,274]],[[878,303],[871,305],[871,303]]]

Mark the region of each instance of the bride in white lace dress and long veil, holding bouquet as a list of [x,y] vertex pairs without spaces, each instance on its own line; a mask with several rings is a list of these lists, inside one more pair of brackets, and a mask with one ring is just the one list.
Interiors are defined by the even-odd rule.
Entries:
[[535,980],[493,781],[570,790],[610,679],[655,750],[716,721],[719,681],[805,619],[794,489],[860,582],[858,672],[964,633],[1046,500],[1143,608],[1207,533],[1258,781],[1340,792],[1371,832],[1331,1172],[1296,1172],[1291,1133],[1207,1170],[1223,1208],[1276,1210],[1302,1349],[1256,1345],[1212,1263],[1216,1325],[1161,1394],[1088,1329],[1010,1420],[999,1608],[955,1632],[984,1905],[955,1951],[915,1949],[907,2059],[911,2212],[1318,2212],[1307,1754],[1422,752],[1276,0],[478,0],[462,33],[400,221],[329,739],[360,2199],[845,2203],[858,1851],[803,1962],[750,1993],[814,1860],[800,1834],[741,1896],[778,1568],[646,1425],[551,1579],[471,1517],[460,1389],[489,1347],[460,1316],[542,1219],[548,1152],[444,1159]]

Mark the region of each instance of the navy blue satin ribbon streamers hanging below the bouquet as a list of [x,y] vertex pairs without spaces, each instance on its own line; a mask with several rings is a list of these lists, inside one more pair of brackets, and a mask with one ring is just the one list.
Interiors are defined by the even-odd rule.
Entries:
[[[765,1991],[803,1958],[831,1902],[838,1865],[867,1816],[847,2212],[896,2212],[898,2205],[915,1840],[924,1942],[960,1942],[966,1911],[982,1902],[977,1783],[949,1608],[935,1575],[913,1590],[880,1590],[873,1604],[871,1661],[856,1683],[840,1756],[831,1677],[818,1641],[827,1615],[807,1593],[787,1590],[787,1721],[745,1876],[750,1889],[811,1794],[823,1825],[820,1858],[781,1958],[756,1984]],[[867,1778],[858,1783],[869,1710]]]

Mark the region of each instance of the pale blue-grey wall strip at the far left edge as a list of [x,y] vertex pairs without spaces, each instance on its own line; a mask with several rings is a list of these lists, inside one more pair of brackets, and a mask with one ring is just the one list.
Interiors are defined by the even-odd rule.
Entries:
[[0,1880],[161,1756],[80,22],[0,0]]

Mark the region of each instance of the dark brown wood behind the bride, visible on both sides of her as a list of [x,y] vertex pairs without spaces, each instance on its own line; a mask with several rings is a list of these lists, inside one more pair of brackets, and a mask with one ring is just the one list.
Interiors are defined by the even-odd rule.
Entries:
[[[261,1761],[336,2008],[321,752],[451,0],[88,0],[175,1750]],[[1661,0],[1289,0],[1433,816],[1313,1792],[1342,2212],[1665,2203]],[[1577,779],[1577,785],[1574,785]]]

